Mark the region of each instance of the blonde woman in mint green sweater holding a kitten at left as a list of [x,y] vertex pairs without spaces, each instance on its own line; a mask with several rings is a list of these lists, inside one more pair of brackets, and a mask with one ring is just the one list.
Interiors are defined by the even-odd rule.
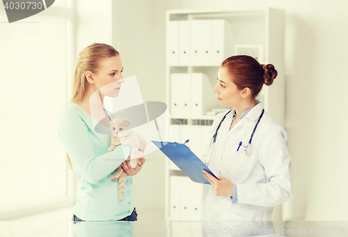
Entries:
[[[140,159],[141,165],[132,168],[129,160],[125,161],[129,157],[125,154],[131,153],[130,146],[118,145],[108,152],[111,135],[98,133],[93,126],[93,120],[103,123],[106,120],[102,118],[109,116],[103,105],[104,97],[118,96],[124,81],[122,70],[118,51],[108,44],[93,43],[79,53],[72,97],[58,122],[68,164],[70,169],[74,168],[80,184],[72,215],[74,221],[137,220],[132,176],[141,170],[145,158]],[[109,128],[108,124],[104,125]],[[139,142],[141,147],[146,146],[142,138]],[[118,181],[110,180],[121,164],[127,174],[123,199],[118,197]]]

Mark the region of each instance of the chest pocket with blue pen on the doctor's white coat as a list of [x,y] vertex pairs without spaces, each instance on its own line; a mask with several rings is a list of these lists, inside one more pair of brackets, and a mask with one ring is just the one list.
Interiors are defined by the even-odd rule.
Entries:
[[226,151],[223,154],[221,167],[230,180],[241,182],[248,177],[253,167],[253,152],[251,156],[246,155],[244,152],[244,146],[233,144],[226,147]]

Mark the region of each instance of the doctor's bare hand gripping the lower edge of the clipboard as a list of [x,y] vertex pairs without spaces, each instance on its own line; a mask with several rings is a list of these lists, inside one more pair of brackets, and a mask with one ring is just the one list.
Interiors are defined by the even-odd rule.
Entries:
[[230,196],[233,195],[233,183],[228,180],[226,177],[217,177],[216,179],[212,174],[203,170],[203,176],[207,178],[212,187],[216,196]]

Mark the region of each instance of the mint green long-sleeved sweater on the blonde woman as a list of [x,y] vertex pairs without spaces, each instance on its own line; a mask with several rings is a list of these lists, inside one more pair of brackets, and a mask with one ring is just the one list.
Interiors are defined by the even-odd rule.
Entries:
[[131,147],[118,145],[108,152],[111,135],[95,132],[92,120],[75,103],[65,106],[58,120],[58,133],[79,183],[74,214],[82,220],[120,220],[134,209],[133,181],[127,176],[125,196],[120,200],[118,179],[110,177],[131,154]]

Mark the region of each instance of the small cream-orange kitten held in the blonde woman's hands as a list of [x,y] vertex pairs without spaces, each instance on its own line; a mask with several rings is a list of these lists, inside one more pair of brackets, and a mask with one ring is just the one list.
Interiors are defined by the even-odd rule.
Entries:
[[[139,135],[134,133],[134,131],[127,129],[129,124],[129,121],[124,119],[113,119],[111,121],[110,128],[112,131],[115,131],[115,134],[111,134],[110,147],[108,148],[108,151],[111,152],[121,143],[124,145],[131,145],[132,154],[130,155],[130,165],[131,167],[136,167],[136,165],[141,165],[141,161],[136,157],[139,157],[139,155],[142,156],[143,152],[139,151]],[[118,197],[120,197],[120,199],[123,199],[125,195],[126,178],[127,174],[122,169],[121,165],[116,168],[115,172],[110,177],[110,180],[118,179]]]

